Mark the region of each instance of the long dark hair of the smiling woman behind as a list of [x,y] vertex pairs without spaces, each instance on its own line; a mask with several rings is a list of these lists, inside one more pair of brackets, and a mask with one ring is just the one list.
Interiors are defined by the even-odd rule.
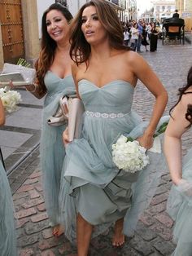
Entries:
[[35,63],[35,68],[37,70],[37,82],[41,87],[41,91],[46,90],[46,86],[44,84],[44,77],[46,75],[47,70],[50,68],[50,65],[54,61],[56,42],[50,38],[49,33],[47,32],[46,27],[46,15],[52,11],[57,10],[60,11],[65,19],[70,23],[72,20],[72,14],[66,7],[63,7],[59,2],[53,3],[50,5],[48,9],[43,13],[41,20],[41,51],[38,60]]

